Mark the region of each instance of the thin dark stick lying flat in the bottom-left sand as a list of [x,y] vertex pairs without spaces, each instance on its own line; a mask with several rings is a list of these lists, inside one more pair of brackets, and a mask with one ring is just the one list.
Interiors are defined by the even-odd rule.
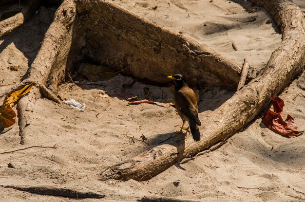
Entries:
[[17,189],[19,191],[26,191],[34,194],[61,196],[73,199],[102,199],[104,194],[98,194],[90,191],[80,191],[75,189],[59,188],[55,186],[15,186],[15,185],[0,185],[4,188]]

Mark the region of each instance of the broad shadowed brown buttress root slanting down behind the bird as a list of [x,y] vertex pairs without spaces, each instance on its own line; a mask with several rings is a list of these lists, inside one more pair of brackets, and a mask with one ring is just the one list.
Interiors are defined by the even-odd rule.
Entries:
[[86,30],[90,56],[115,71],[146,82],[168,83],[183,72],[190,86],[235,90],[241,65],[205,45],[100,0],[77,0],[78,20]]

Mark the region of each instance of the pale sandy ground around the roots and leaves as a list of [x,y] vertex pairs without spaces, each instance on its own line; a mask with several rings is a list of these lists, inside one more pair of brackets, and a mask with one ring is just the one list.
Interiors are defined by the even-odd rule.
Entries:
[[[269,19],[266,12],[260,9],[248,13],[256,7],[244,1],[114,2],[141,17],[207,44],[239,63],[248,56],[254,73],[267,63],[281,41],[273,23],[266,23]],[[302,0],[296,2],[304,6]],[[38,53],[55,10],[54,7],[41,7],[29,22],[13,34],[0,38],[0,86],[18,83],[22,79]],[[245,22],[253,18],[256,20]],[[238,51],[233,50],[232,41]],[[19,66],[18,71],[12,71],[11,66]],[[79,82],[77,86],[71,82],[61,85],[58,94],[85,103],[84,111],[45,98],[31,103],[28,106],[31,115],[26,145],[19,145],[19,127],[15,124],[0,134],[0,153],[31,146],[57,148],[35,147],[0,154],[0,185],[54,185],[106,195],[102,200],[78,200],[86,202],[132,202],[144,195],[201,202],[305,201],[305,136],[287,139],[270,131],[261,123],[264,111],[222,147],[189,162],[173,165],[149,181],[97,181],[97,174],[107,166],[128,160],[159,144],[172,136],[181,124],[172,107],[128,106],[121,93],[139,95],[139,99],[144,99],[144,87],[151,92],[149,99],[172,101],[168,88],[136,82],[133,87],[122,89],[122,84],[132,80],[118,74],[100,85],[88,82]],[[200,117],[209,114],[232,95],[233,92],[226,90],[208,89],[198,103]],[[305,73],[279,95],[286,104],[284,114],[293,116],[300,130],[305,129],[304,95]],[[148,139],[146,143],[140,141],[142,134]],[[9,168],[9,163],[15,164],[16,168]],[[175,186],[173,182],[179,184]],[[3,187],[0,187],[0,198],[5,202],[71,201]]]

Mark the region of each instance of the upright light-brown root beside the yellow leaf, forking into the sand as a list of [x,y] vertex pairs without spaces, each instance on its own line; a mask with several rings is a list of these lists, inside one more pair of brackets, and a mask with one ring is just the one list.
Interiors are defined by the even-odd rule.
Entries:
[[[65,68],[72,43],[75,14],[75,4],[73,0],[65,0],[57,9],[55,18],[45,34],[38,55],[30,67],[27,80],[36,81],[38,86],[35,86],[32,91],[18,103],[19,136],[21,138],[20,144],[22,145],[26,143],[26,131],[29,126],[29,124],[26,123],[26,117],[29,117],[29,110],[27,108],[31,108],[30,105],[33,105],[35,100],[40,98],[41,91],[44,93],[48,92],[49,95],[52,95],[52,93],[45,88],[41,88],[46,86],[48,81],[51,81],[51,84],[56,87],[59,82],[64,81]],[[50,85],[50,88],[52,90],[54,89],[52,88],[52,85]],[[42,90],[39,91],[39,89]],[[55,96],[50,97],[54,98],[54,101],[59,102]]]

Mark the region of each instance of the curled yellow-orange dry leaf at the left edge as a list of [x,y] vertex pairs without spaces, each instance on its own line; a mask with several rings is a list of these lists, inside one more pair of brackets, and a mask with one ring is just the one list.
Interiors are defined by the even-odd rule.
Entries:
[[34,83],[35,81],[24,86],[19,91],[15,91],[12,94],[6,94],[0,109],[0,123],[4,129],[15,124],[16,113],[12,108],[16,105],[21,97],[32,90]]

